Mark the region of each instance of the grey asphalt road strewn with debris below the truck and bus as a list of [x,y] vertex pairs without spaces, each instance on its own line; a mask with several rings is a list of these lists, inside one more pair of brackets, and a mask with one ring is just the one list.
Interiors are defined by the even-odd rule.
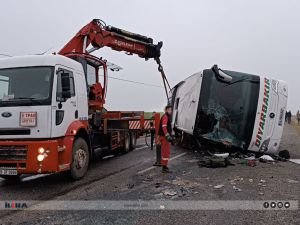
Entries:
[[[291,125],[284,129],[282,149],[300,158],[300,139]],[[291,162],[199,168],[199,153],[172,148],[172,174],[151,167],[154,152],[144,146],[118,157],[93,162],[85,178],[67,174],[30,176],[20,183],[0,180],[0,200],[58,200],[98,203],[123,200],[160,201],[186,207],[177,210],[36,210],[0,211],[0,224],[300,224],[299,210],[188,210],[192,202],[300,200],[300,165]],[[220,185],[220,188],[215,186]],[[177,203],[176,203],[177,202]],[[191,202],[191,204],[189,204]],[[200,202],[201,203],[201,202]],[[205,203],[203,202],[203,206]],[[84,208],[84,206],[83,206]],[[230,207],[229,207],[230,208]]]

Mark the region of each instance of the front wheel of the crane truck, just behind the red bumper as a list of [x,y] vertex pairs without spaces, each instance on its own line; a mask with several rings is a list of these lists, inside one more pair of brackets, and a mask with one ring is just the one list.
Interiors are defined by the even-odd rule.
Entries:
[[71,177],[74,180],[81,179],[87,172],[90,161],[89,148],[83,138],[77,138],[73,144],[71,163]]

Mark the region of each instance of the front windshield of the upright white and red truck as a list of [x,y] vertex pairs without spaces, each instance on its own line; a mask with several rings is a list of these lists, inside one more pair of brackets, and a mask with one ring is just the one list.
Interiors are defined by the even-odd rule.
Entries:
[[0,106],[51,103],[53,67],[0,70]]

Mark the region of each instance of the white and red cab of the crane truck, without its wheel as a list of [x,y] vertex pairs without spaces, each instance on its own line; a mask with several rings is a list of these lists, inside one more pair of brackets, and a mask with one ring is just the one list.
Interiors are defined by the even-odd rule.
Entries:
[[60,55],[1,59],[0,174],[70,169],[76,135],[87,137],[87,105],[80,63]]

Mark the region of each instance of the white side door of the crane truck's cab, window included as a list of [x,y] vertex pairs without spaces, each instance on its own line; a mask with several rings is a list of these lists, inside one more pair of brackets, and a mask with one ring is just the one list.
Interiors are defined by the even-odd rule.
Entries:
[[74,75],[70,69],[59,66],[53,82],[51,137],[64,136],[69,125],[78,120]]

